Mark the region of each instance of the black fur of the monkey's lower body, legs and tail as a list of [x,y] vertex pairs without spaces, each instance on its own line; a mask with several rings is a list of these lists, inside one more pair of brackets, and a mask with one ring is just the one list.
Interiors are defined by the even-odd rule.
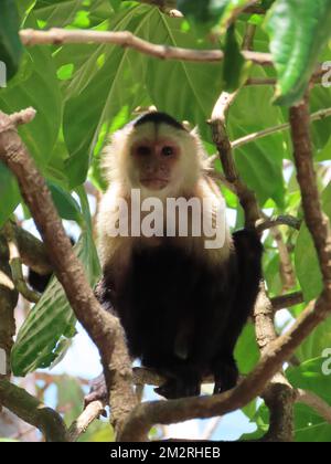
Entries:
[[226,265],[164,244],[134,251],[119,283],[105,270],[97,297],[118,314],[131,356],[170,379],[159,389],[167,398],[199,394],[204,375],[216,393],[237,381],[233,351],[258,293],[261,244],[244,230],[234,245]]

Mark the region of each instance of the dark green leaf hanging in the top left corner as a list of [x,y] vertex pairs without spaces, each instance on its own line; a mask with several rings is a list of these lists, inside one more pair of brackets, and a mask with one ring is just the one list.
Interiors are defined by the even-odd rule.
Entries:
[[[18,33],[19,27],[19,14],[14,0],[2,0],[0,14],[0,64],[6,65],[7,78],[11,78],[19,68],[23,49]],[[2,66],[0,66],[0,73],[3,71]]]

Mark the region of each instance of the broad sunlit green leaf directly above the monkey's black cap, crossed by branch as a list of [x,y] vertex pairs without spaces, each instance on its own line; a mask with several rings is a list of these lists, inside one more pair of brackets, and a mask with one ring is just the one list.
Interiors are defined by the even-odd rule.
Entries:
[[[150,13],[143,39],[154,43],[191,49],[206,48],[192,32],[183,32],[179,20],[158,10]],[[210,45],[209,45],[210,46]],[[222,91],[222,64],[148,59],[146,85],[153,105],[179,120],[197,125],[202,137],[211,139],[206,120]]]

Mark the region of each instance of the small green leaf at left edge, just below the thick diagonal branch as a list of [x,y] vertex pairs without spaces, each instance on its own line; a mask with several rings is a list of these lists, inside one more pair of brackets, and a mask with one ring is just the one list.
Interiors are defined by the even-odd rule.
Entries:
[[0,228],[14,211],[20,202],[20,198],[17,179],[3,162],[0,161]]

